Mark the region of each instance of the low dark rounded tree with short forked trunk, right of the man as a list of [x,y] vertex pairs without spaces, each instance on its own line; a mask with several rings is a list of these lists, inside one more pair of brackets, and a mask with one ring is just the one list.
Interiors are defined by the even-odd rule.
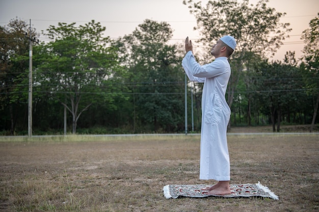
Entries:
[[[286,58],[291,55],[287,52]],[[294,55],[294,54],[293,54]],[[291,61],[295,58],[291,57]],[[298,67],[285,63],[264,60],[256,67],[256,80],[254,87],[256,94],[253,99],[257,99],[262,105],[269,108],[273,132],[280,131],[280,123],[284,114],[289,116],[291,109],[296,109],[299,99],[304,99],[303,83]],[[299,105],[300,106],[300,105]]]

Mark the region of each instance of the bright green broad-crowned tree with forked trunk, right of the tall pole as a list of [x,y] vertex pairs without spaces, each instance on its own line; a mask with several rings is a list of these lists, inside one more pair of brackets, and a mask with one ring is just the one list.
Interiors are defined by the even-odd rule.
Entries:
[[38,50],[36,80],[42,92],[54,97],[72,114],[72,133],[78,118],[94,102],[112,104],[116,87],[105,86],[121,71],[116,49],[105,27],[92,20],[85,25],[59,23],[45,34],[52,41]]

